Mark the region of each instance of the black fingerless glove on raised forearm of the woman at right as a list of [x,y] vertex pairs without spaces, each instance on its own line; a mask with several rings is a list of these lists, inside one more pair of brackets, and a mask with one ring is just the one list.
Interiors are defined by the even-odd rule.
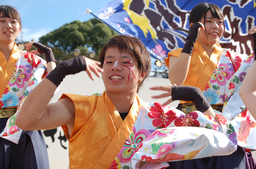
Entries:
[[187,53],[192,56],[194,43],[196,43],[196,39],[198,37],[198,29],[201,26],[202,25],[200,23],[193,23],[193,25],[189,28],[187,41],[184,44],[184,47],[181,52]]

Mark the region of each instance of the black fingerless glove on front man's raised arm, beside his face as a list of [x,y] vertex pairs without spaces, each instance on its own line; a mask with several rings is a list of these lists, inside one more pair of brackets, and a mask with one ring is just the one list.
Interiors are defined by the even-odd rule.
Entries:
[[58,87],[66,75],[74,75],[81,71],[86,71],[86,62],[83,56],[78,56],[60,62],[45,78]]

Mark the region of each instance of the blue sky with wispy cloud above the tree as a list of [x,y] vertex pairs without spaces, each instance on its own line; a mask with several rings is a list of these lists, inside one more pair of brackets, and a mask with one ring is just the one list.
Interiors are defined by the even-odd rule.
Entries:
[[0,0],[0,5],[15,7],[22,21],[22,37],[18,40],[34,40],[74,20],[93,19],[90,13],[79,14],[90,9],[93,13],[112,0]]

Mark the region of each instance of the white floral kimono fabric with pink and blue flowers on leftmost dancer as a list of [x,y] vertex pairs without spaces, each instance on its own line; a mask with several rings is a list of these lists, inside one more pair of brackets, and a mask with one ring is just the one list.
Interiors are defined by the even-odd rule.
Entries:
[[[11,79],[0,98],[0,108],[18,106],[17,114],[27,95],[42,81],[46,74],[45,60],[27,51],[19,51],[19,58]],[[16,114],[8,119],[0,137],[18,144],[22,130],[16,126]]]

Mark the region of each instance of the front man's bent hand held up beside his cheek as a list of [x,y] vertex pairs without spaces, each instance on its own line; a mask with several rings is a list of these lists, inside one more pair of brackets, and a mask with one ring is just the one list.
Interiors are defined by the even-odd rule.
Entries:
[[97,75],[98,77],[101,77],[101,73],[103,72],[103,69],[99,67],[101,65],[101,62],[98,62],[90,58],[86,58],[85,56],[83,56],[83,58],[86,62],[86,72],[89,75],[89,77],[92,80],[95,80],[92,74],[92,71],[94,72],[95,75]]

